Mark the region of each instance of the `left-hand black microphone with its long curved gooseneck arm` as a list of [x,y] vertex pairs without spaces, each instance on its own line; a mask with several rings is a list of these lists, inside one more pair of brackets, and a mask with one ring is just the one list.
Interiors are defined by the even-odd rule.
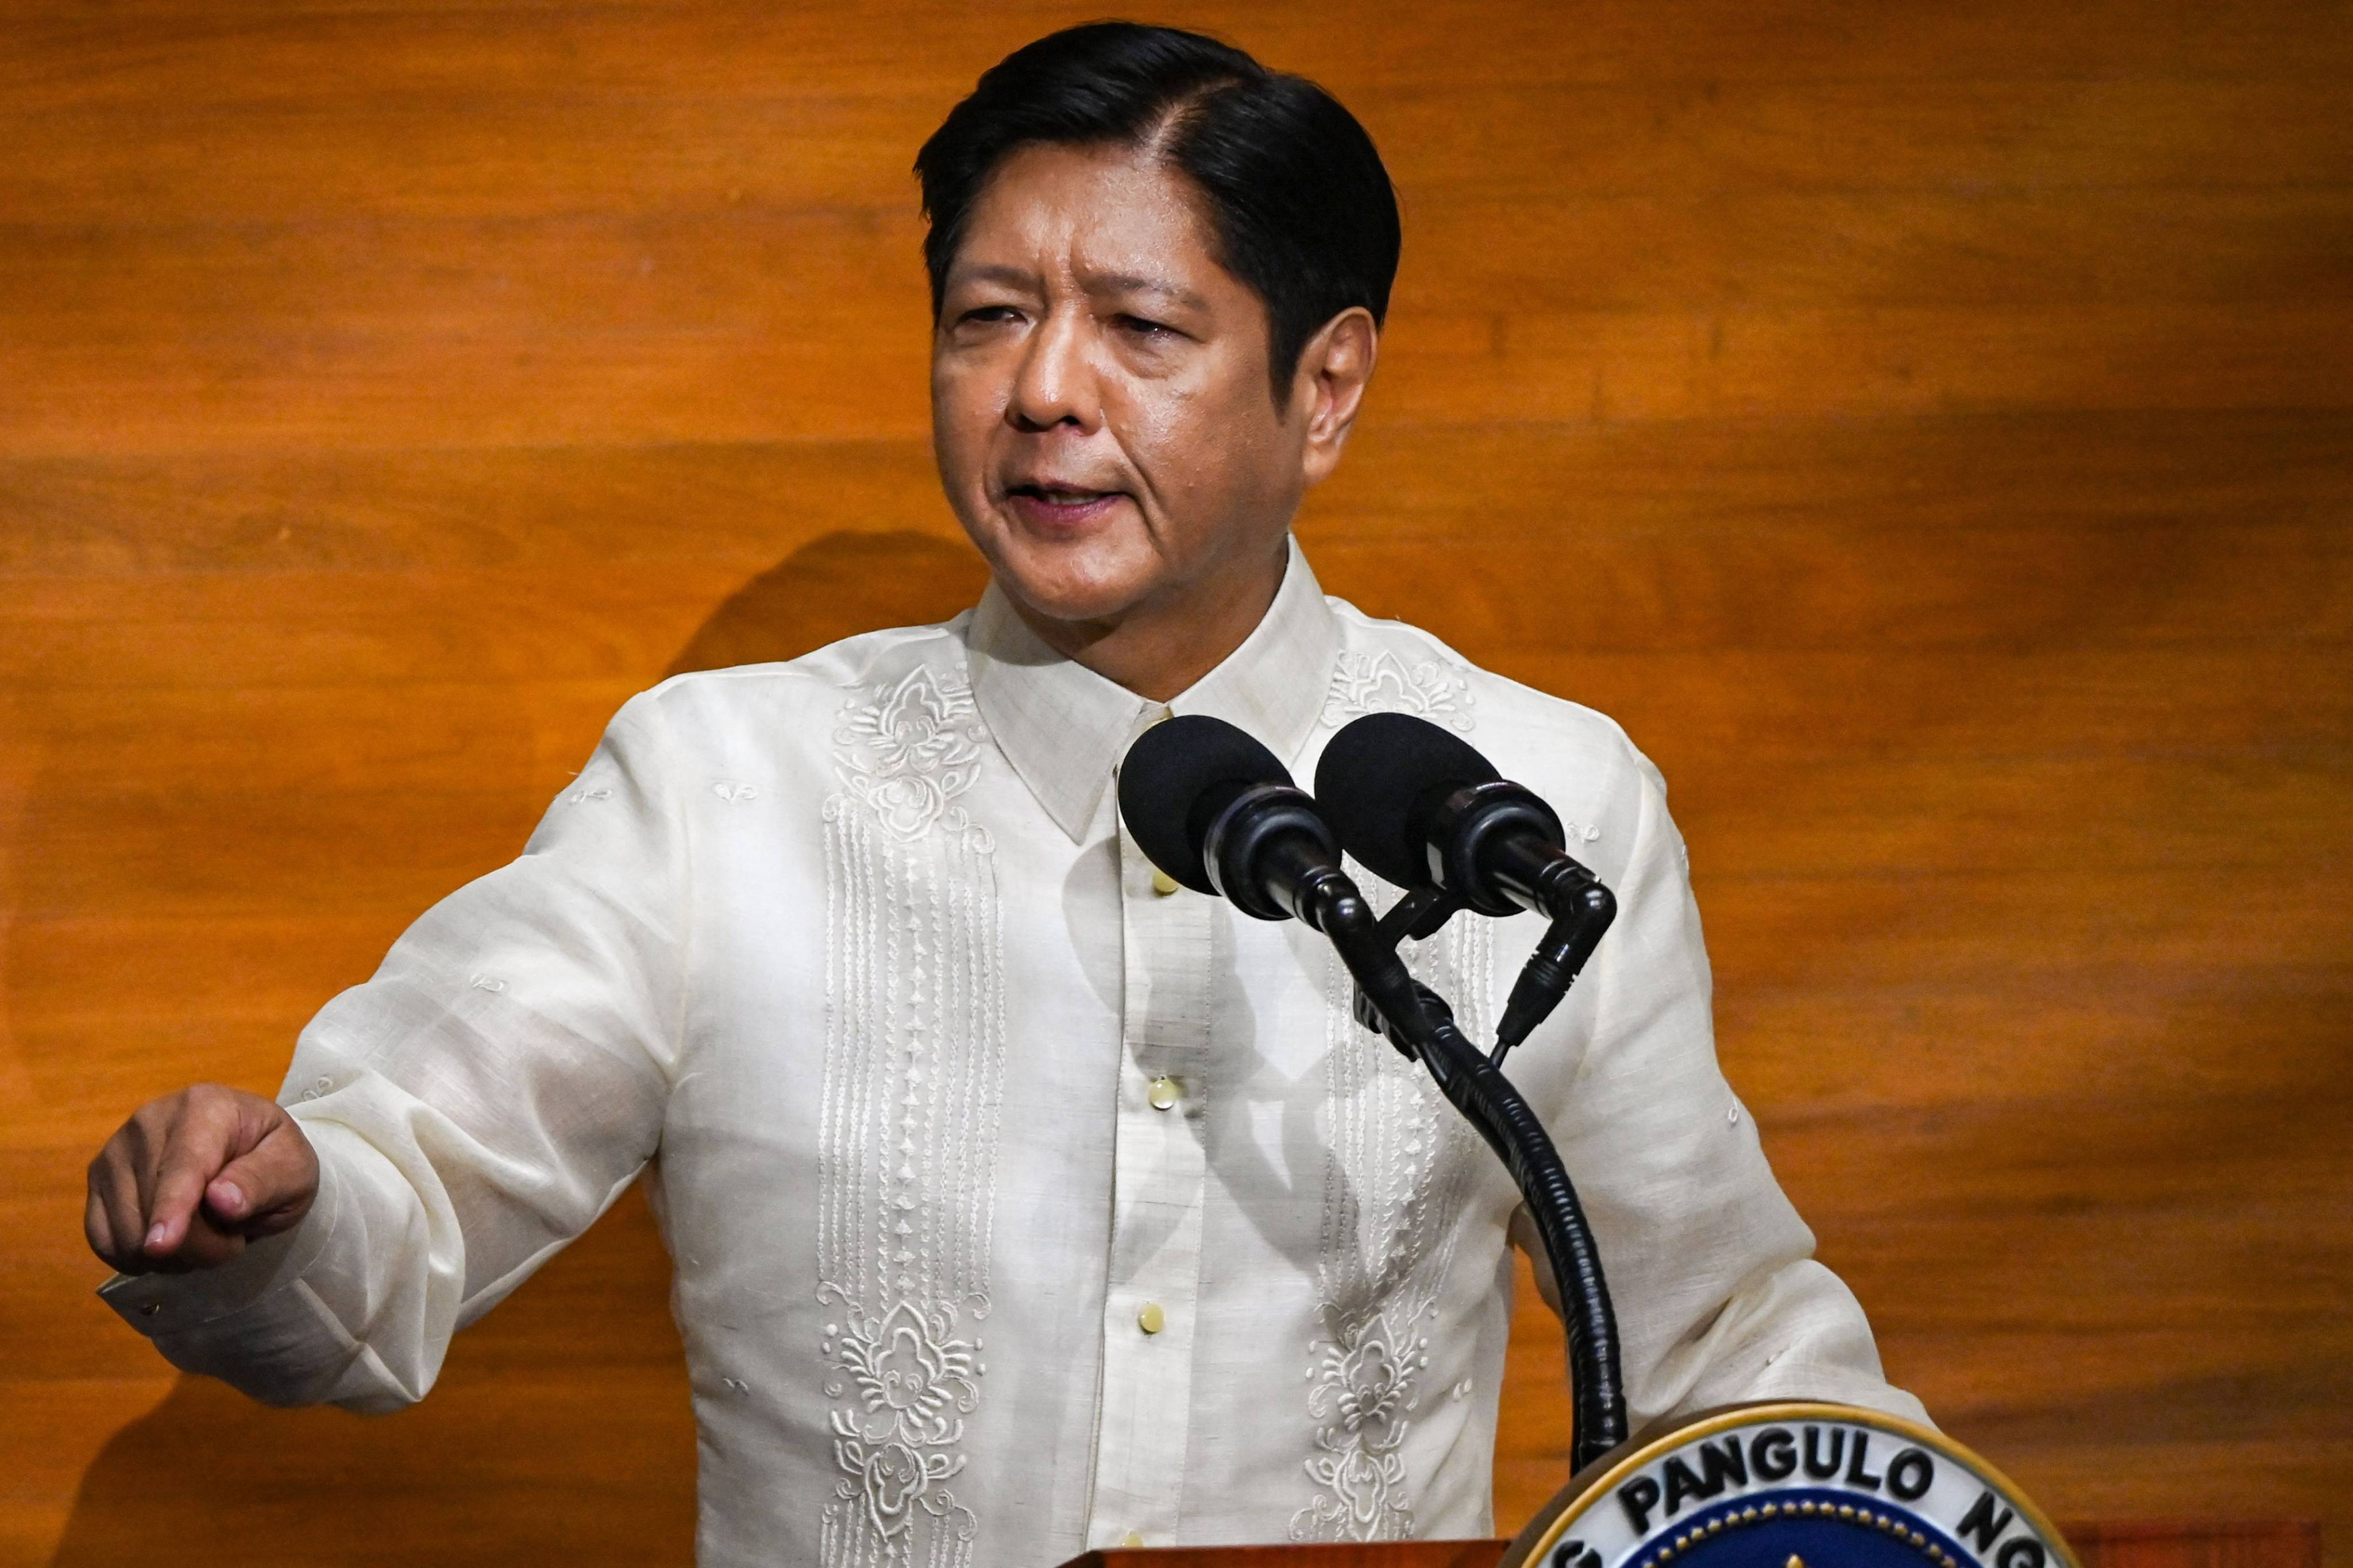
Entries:
[[[1414,889],[1388,919],[1377,917],[1341,870],[1339,842],[1315,802],[1292,788],[1264,745],[1202,715],[1169,719],[1129,748],[1120,769],[1120,816],[1146,858],[1179,884],[1224,896],[1257,919],[1299,919],[1332,943],[1355,978],[1358,1023],[1428,1070],[1527,1201],[1567,1319],[1577,1410],[1572,1469],[1624,1443],[1617,1312],[1569,1171],[1511,1079],[1464,1037],[1438,992],[1417,985],[1398,959],[1398,943],[1435,933],[1461,903]],[[1558,870],[1527,875],[1546,889],[1560,879]]]

